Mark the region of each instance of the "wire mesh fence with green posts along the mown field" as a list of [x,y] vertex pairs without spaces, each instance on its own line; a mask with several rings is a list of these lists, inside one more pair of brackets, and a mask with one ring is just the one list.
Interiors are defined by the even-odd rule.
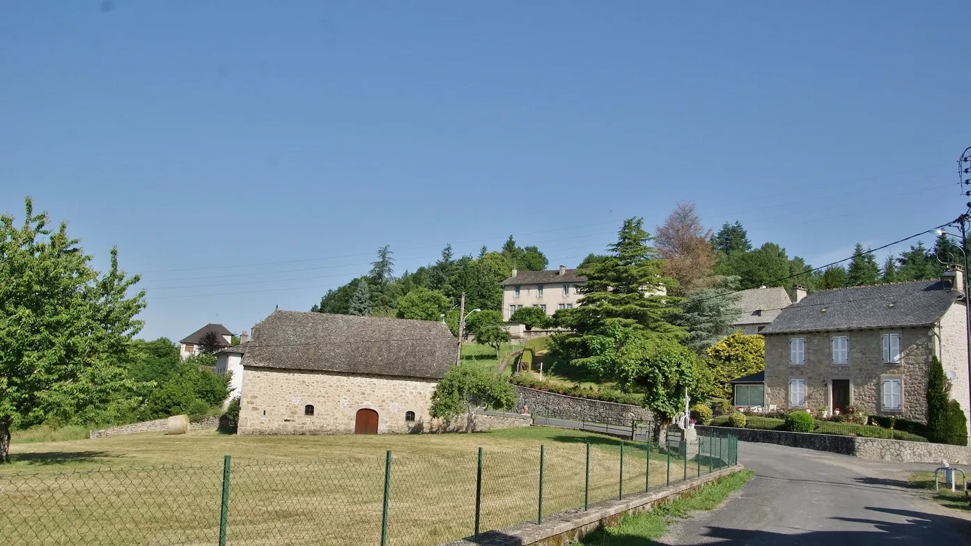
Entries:
[[440,544],[638,495],[737,460],[734,436],[522,451],[0,475],[17,545]]

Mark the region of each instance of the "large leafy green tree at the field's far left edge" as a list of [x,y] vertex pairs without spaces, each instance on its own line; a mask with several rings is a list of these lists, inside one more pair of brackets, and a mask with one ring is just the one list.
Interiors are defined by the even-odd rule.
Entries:
[[0,216],[0,461],[10,430],[48,420],[86,424],[129,413],[138,385],[126,373],[145,292],[118,269],[90,266],[67,224],[54,230],[25,201],[21,226]]

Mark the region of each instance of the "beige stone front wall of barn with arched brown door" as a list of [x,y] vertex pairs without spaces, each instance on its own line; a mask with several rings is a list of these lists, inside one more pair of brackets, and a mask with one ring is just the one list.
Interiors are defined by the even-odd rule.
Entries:
[[[239,434],[350,434],[358,410],[378,412],[378,432],[431,427],[434,379],[245,366]],[[306,406],[314,415],[305,415]],[[415,412],[415,422],[405,421]]]

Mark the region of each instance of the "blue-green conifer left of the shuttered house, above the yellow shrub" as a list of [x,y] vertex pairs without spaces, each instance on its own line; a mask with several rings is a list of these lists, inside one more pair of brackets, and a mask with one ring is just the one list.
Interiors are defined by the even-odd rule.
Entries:
[[672,319],[672,323],[687,330],[686,345],[698,355],[715,344],[732,330],[741,311],[738,302],[738,277],[726,277],[718,288],[693,292],[681,304],[682,312]]

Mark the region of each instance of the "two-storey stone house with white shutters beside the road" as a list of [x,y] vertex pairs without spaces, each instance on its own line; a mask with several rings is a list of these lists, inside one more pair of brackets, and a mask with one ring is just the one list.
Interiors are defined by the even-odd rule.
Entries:
[[948,271],[939,281],[820,290],[788,306],[761,331],[768,409],[853,406],[926,423],[936,356],[968,413],[966,300],[953,288],[960,279]]

